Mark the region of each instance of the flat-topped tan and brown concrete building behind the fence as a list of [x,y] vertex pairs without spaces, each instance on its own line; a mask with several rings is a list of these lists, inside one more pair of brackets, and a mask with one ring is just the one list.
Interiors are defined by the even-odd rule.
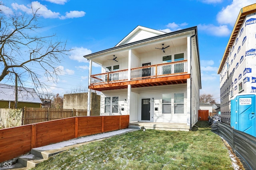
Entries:
[[[85,109],[87,110],[88,93],[65,94],[63,98],[63,109]],[[100,115],[100,95],[91,93],[91,116]]]

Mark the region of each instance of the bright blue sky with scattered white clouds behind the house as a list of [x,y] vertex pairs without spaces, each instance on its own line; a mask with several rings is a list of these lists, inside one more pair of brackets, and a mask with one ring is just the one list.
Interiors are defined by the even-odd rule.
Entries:
[[[198,26],[202,93],[220,101],[217,74],[222,55],[240,9],[256,0],[4,0],[6,13],[40,8],[40,34],[56,33],[74,49],[58,63],[57,83],[48,82],[51,93],[61,96],[71,89],[88,87],[89,63],[83,55],[114,47],[136,26],[164,32]],[[100,73],[94,65],[93,73]],[[1,83],[8,83],[4,80]]]

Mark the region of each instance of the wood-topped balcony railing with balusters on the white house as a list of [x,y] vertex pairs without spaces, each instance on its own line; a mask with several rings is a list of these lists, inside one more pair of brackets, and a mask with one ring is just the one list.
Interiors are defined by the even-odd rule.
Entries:
[[[131,79],[156,78],[168,75],[175,75],[187,72],[187,60],[175,61],[170,63],[149,65],[131,69]],[[91,75],[91,84],[104,84],[116,81],[127,81],[128,69],[112,71]]]

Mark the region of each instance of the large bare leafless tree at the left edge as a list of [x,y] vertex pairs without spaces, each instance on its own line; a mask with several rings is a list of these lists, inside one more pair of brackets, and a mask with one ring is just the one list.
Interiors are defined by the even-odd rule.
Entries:
[[38,26],[39,16],[37,10],[31,10],[32,15],[0,13],[0,82],[4,78],[13,82],[18,76],[21,86],[31,80],[36,89],[46,88],[46,81],[57,80],[59,70],[56,64],[70,50],[56,34],[42,36],[36,32],[41,28]]

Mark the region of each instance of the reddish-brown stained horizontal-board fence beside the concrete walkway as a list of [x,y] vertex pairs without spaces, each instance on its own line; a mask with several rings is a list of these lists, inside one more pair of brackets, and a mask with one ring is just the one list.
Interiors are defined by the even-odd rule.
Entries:
[[0,129],[0,162],[32,148],[102,132],[128,128],[129,115],[70,117]]

